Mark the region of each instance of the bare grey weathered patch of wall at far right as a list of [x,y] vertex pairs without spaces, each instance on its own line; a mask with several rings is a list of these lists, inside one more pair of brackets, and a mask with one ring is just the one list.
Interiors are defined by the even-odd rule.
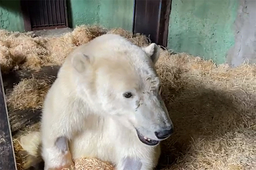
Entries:
[[228,51],[227,62],[256,63],[256,0],[240,0],[234,25],[235,45]]

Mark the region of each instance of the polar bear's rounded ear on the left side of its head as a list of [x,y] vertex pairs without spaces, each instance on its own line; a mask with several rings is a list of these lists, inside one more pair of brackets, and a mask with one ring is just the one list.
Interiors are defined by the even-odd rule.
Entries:
[[83,53],[77,53],[72,59],[72,66],[78,72],[84,72],[86,67],[90,64],[90,57]]

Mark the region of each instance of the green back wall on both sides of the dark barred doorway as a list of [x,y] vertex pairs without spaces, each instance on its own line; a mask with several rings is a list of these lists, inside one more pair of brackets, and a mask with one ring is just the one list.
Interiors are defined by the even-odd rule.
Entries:
[[[69,26],[98,24],[132,31],[134,0],[67,0]],[[0,0],[0,29],[24,32],[20,0]]]

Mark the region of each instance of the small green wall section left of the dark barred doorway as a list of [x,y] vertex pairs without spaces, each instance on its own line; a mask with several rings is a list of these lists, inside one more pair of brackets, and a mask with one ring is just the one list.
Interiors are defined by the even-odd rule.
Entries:
[[0,0],[0,29],[24,32],[20,0]]

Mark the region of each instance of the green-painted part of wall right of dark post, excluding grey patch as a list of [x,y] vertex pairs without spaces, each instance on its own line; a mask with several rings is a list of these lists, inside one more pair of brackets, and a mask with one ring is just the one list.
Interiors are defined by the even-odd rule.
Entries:
[[224,63],[235,44],[238,5],[239,0],[173,0],[168,49]]

